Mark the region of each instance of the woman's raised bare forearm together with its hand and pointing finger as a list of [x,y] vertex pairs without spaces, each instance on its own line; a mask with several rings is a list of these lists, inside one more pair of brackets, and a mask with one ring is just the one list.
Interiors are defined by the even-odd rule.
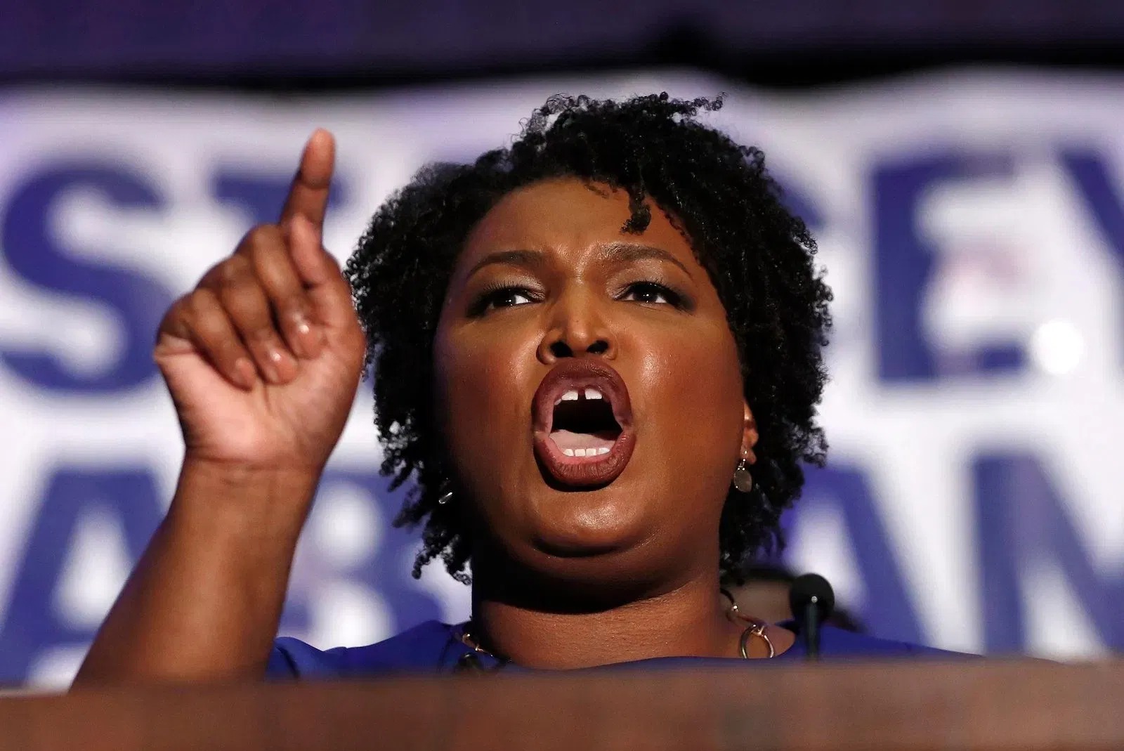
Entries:
[[164,316],[155,358],[187,444],[164,522],[76,686],[260,677],[365,350],[321,241],[335,145],[317,130],[278,224],[251,229]]

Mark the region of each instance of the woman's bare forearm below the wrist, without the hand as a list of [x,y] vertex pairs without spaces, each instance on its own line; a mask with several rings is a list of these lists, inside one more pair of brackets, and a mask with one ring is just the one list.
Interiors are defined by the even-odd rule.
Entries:
[[262,676],[316,481],[187,462],[74,685]]

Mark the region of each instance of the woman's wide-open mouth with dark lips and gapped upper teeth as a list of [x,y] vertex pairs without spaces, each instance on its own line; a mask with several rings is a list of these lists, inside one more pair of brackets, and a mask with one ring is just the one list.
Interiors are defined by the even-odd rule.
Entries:
[[540,383],[533,402],[535,455],[565,486],[611,482],[632,456],[628,389],[608,364],[569,360]]

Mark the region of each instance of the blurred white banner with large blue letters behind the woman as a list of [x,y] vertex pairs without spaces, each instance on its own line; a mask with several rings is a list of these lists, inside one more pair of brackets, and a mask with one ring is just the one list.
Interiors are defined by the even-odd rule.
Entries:
[[[1124,79],[949,74],[804,97],[701,76],[279,102],[112,91],[0,99],[0,680],[69,679],[157,524],[181,447],[152,364],[170,301],[271,220],[316,126],[326,233],[434,159],[509,142],[556,91],[732,91],[836,293],[828,468],[789,561],[873,633],[969,651],[1124,649]],[[321,646],[466,614],[390,528],[362,396],[302,539],[282,630]],[[187,596],[187,595],[185,595]]]

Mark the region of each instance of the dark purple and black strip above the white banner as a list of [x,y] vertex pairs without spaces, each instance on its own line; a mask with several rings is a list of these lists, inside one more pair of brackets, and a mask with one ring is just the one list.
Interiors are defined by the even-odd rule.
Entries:
[[[302,89],[690,65],[805,84],[968,62],[1124,66],[1118,0],[3,0],[0,80]],[[301,81],[299,76],[305,76]]]

